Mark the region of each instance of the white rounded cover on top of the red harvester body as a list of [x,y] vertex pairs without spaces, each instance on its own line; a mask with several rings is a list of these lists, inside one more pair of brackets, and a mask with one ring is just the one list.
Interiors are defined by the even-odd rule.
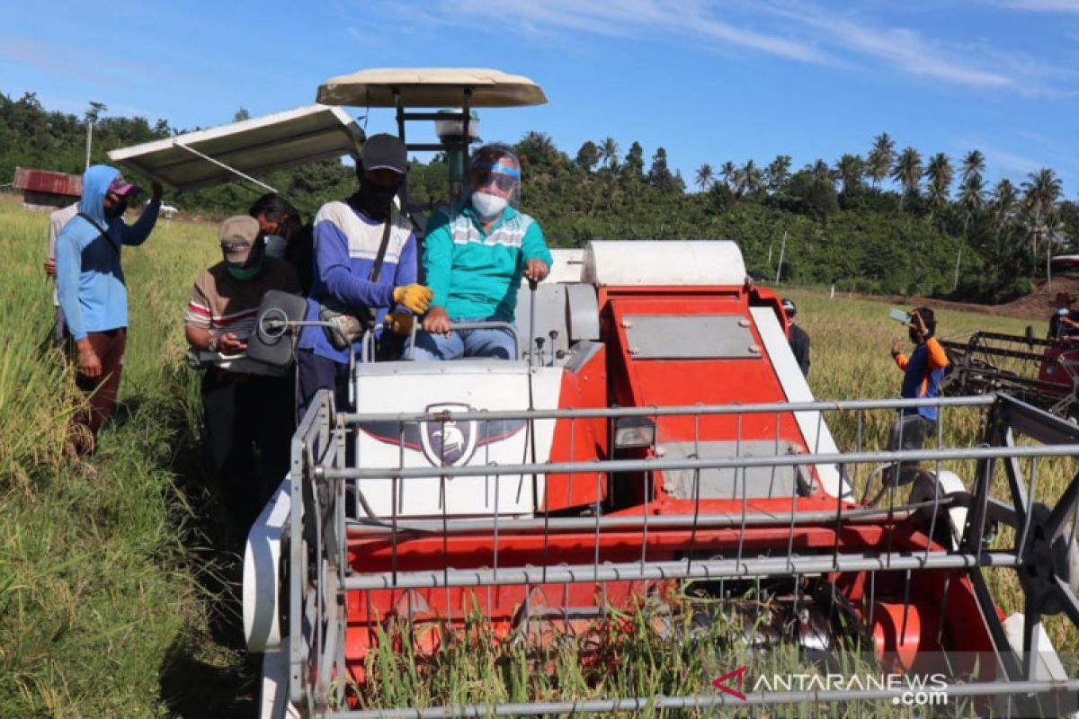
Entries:
[[592,241],[582,277],[598,287],[741,287],[746,263],[726,240]]

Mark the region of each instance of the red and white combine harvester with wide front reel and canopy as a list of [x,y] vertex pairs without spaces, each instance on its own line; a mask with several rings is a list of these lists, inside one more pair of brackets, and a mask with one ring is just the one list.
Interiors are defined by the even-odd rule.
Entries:
[[[447,119],[407,108],[463,108],[442,148],[452,171],[472,108],[545,98],[494,71],[380,70],[330,80],[318,101],[394,107],[402,137],[407,120]],[[934,448],[874,448],[898,410],[926,402],[815,401],[779,298],[747,281],[734,243],[595,241],[557,255],[552,281],[520,290],[522,359],[360,362],[358,412],[326,393],[303,417],[290,478],[246,553],[263,716],[832,716],[906,703],[900,686],[763,690],[752,664],[680,696],[360,702],[380,641],[401,651],[405,636],[434,656],[478,612],[493,644],[549,646],[645,605],[669,628],[684,609],[668,599],[687,585],[732,605],[756,597],[755,618],[736,623],[754,652],[791,642],[827,658],[853,634],[882,672],[946,677],[948,716],[1076,710],[1079,679],[1042,618],[1066,616],[1074,641],[1079,428],[1006,395],[947,398],[929,402]],[[274,326],[265,315],[268,341]],[[945,446],[959,419],[976,437]],[[900,460],[923,470],[884,482]],[[1049,467],[1063,476],[1052,497],[1039,482]],[[1009,582],[1022,614],[994,600]],[[402,625],[412,631],[395,634]]]

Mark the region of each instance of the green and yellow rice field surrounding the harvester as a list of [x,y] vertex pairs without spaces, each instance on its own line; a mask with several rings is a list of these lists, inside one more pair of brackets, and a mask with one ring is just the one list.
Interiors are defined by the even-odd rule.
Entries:
[[[216,529],[219,507],[199,458],[197,377],[182,363],[191,282],[219,257],[214,227],[162,221],[144,247],[125,249],[132,329],[121,411],[103,432],[99,453],[78,461],[64,457],[63,441],[79,398],[49,343],[51,285],[41,271],[47,216],[0,196],[0,248],[10,258],[0,285],[0,716],[250,716],[257,664],[236,635],[238,606],[229,584],[235,544]],[[901,374],[889,349],[902,332],[887,319],[888,305],[808,291],[789,296],[812,338],[809,383],[817,397],[898,393]],[[1022,333],[1027,324],[971,313],[937,316],[945,337],[975,329]],[[859,435],[872,446],[883,442],[889,421],[866,416],[861,434],[855,417],[832,428],[842,447]],[[976,440],[969,412],[942,424],[945,444]],[[1075,468],[1046,465],[1038,494],[1049,500]],[[997,541],[1008,539],[1001,533]],[[994,571],[991,579],[1002,608],[1022,610],[1014,572]],[[369,656],[372,681],[361,699],[385,706],[670,695],[706,691],[732,661],[761,670],[798,661],[781,652],[749,655],[730,639],[730,618],[693,592],[669,599],[688,609],[664,619],[642,607],[620,618],[616,633],[597,628],[540,655],[519,645],[495,647],[478,617],[466,639],[448,642],[433,659],[410,653],[413,628],[390,626],[384,649]],[[702,612],[707,630],[682,627],[692,641],[668,640],[672,622]],[[1047,631],[1074,661],[1079,632],[1060,617],[1047,621]],[[619,658],[614,670],[592,665],[586,647]],[[839,716],[810,706],[784,711],[754,716]],[[850,716],[891,711],[870,707]]]

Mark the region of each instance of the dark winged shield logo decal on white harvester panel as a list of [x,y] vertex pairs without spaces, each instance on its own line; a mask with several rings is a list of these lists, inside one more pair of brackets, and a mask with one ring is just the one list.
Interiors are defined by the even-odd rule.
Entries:
[[359,428],[379,442],[422,452],[433,467],[461,467],[468,464],[478,448],[509,439],[525,425],[523,419],[453,419],[453,413],[475,411],[476,407],[462,402],[438,402],[428,404],[424,412],[445,413],[446,419],[404,425],[367,421]]

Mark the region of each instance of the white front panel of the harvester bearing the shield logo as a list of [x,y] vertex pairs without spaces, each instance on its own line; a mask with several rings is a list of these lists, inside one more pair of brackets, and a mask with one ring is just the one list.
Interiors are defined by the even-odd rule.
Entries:
[[[532,369],[533,406],[556,409],[560,368]],[[451,362],[382,362],[356,368],[360,412],[422,413],[516,410],[529,406],[525,362],[459,360]],[[360,480],[360,515],[368,509],[381,518],[523,515],[535,511],[535,494],[544,478],[531,474],[441,478],[436,467],[520,465],[547,461],[555,420],[533,423],[535,454],[524,420],[365,423],[359,432],[357,464],[379,467],[431,467],[432,475],[394,482]],[[365,507],[366,503],[366,507]]]

